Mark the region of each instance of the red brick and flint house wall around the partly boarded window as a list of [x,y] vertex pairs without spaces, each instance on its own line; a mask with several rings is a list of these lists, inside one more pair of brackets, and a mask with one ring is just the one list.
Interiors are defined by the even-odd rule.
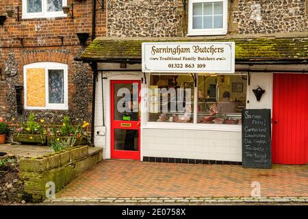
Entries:
[[[72,3],[68,0],[68,5]],[[14,86],[23,85],[23,66],[33,62],[60,62],[68,64],[68,111],[66,110],[32,110],[38,118],[57,123],[64,114],[74,119],[90,120],[92,99],[92,73],[88,64],[75,62],[73,58],[84,49],[79,44],[77,33],[87,32],[91,41],[92,34],[92,1],[73,1],[74,19],[33,18],[22,19],[22,0],[1,0],[0,14],[6,15],[10,8],[19,5],[20,21],[7,17],[0,26],[0,116],[6,120],[16,118],[16,96]],[[106,10],[100,10],[97,3],[96,36],[105,36]],[[59,36],[63,36],[63,43]],[[23,46],[20,40],[23,38]],[[5,62],[14,55],[18,74],[15,77],[5,77]],[[86,88],[85,88],[86,87]],[[79,103],[79,102],[82,102]],[[29,111],[25,111],[25,116]]]

